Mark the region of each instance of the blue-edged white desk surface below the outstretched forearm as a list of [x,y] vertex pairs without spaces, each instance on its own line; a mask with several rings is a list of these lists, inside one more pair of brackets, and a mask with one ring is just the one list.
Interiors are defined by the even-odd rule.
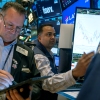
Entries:
[[70,91],[70,92],[58,92],[59,95],[66,97],[69,100],[76,100],[79,91]]

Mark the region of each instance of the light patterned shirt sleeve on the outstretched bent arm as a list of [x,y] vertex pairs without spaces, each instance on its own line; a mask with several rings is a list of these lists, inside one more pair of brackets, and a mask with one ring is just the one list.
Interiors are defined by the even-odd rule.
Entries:
[[44,90],[56,93],[76,83],[71,70],[66,73],[54,74],[51,71],[50,62],[47,57],[36,54],[35,61],[41,76],[52,76],[44,80],[42,84]]

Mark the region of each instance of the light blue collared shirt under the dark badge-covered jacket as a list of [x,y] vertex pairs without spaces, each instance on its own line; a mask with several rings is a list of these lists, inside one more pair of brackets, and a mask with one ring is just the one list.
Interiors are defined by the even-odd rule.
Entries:
[[[11,63],[12,63],[12,57],[13,57],[13,51],[14,51],[14,45],[17,43],[17,40],[13,41],[11,44],[4,46],[3,40],[0,37],[0,69],[5,70],[7,72],[11,72]],[[13,46],[13,47],[12,47]],[[9,51],[12,47],[12,50],[9,54]],[[9,57],[6,61],[6,58],[9,54]],[[5,63],[6,61],[6,63]],[[4,65],[5,63],[5,65]],[[0,95],[0,100],[6,100],[6,95]]]

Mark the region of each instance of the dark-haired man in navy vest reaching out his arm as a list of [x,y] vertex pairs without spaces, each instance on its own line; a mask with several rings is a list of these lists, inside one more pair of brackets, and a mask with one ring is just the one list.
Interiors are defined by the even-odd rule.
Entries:
[[38,28],[38,40],[35,41],[36,46],[33,50],[36,66],[41,76],[52,76],[44,80],[40,100],[57,100],[57,92],[74,85],[79,77],[85,75],[86,69],[94,55],[94,52],[83,54],[73,70],[59,74],[54,65],[51,52],[56,41],[55,36],[55,29],[51,24],[44,24]]

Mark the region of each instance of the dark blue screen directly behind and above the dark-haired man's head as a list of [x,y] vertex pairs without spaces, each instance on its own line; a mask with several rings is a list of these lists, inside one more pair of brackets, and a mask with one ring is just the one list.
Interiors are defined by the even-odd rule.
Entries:
[[58,37],[60,33],[60,24],[62,23],[62,16],[38,20],[38,27],[42,24],[48,24],[48,23],[54,26],[55,31],[56,31],[56,36]]

